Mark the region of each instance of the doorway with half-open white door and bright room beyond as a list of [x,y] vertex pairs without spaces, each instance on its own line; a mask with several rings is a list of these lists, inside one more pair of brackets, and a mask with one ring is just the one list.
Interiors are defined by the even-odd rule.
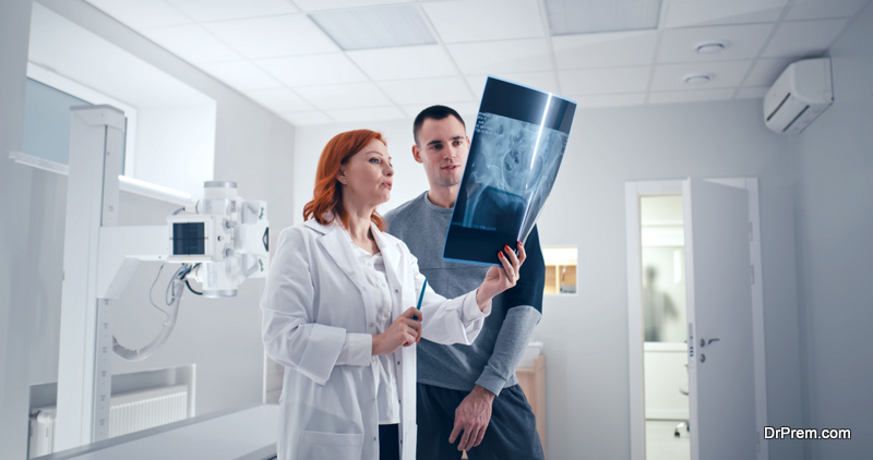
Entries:
[[[737,205],[733,214],[728,216],[713,202],[719,196]],[[766,382],[757,180],[629,182],[625,211],[631,459],[721,458],[714,447],[726,441],[744,446],[744,457],[767,459],[762,436],[766,425]],[[719,219],[721,225],[714,227],[713,222]],[[715,344],[707,341],[709,360],[703,364],[698,362],[704,353],[696,343],[695,327],[699,326],[707,337],[716,331],[711,305],[717,304],[704,296],[710,295],[714,286],[720,289],[729,285],[722,278],[713,281],[711,276],[721,274],[722,262],[731,258],[729,254],[716,256],[711,251],[713,246],[722,245],[721,239],[732,239],[730,254],[740,254],[740,259],[746,261],[723,268],[723,275],[734,281],[731,286],[738,299],[744,299],[734,304],[744,305],[740,310],[745,308],[748,314],[734,320],[739,326],[731,326],[731,330],[721,327],[729,322],[719,317],[717,336],[728,339]],[[695,271],[699,283],[696,296]],[[721,314],[732,310],[736,308],[722,305],[715,311]],[[742,342],[748,347],[737,346]],[[719,400],[726,383],[709,376],[720,375],[726,368],[738,368],[749,376],[744,392],[736,396],[749,408],[741,422],[725,417],[723,408],[711,409],[716,408],[711,401]],[[699,429],[695,431],[695,425]],[[647,449],[655,446],[660,452]]]

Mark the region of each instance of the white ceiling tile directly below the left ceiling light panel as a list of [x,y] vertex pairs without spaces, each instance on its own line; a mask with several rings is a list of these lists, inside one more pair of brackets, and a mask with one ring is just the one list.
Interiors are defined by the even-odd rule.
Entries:
[[427,78],[457,75],[455,63],[440,45],[346,51],[373,80]]

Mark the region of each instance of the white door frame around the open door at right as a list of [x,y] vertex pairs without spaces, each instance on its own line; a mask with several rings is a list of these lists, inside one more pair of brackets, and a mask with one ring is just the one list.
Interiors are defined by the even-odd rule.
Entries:
[[[643,308],[641,290],[643,287],[642,244],[639,238],[639,198],[643,196],[683,195],[685,180],[632,181],[624,184],[626,249],[627,249],[627,358],[630,376],[630,426],[631,460],[644,460],[645,437],[645,386],[643,377]],[[757,460],[768,460],[768,444],[763,438],[767,424],[767,379],[764,343],[764,281],[761,269],[761,209],[758,203],[757,178],[707,179],[749,193],[750,258],[752,261],[752,332],[754,337],[755,368],[755,419],[758,432]],[[683,218],[689,214],[683,209]],[[685,235],[687,239],[687,235]],[[687,267],[687,265],[686,265]],[[691,415],[691,414],[690,414]]]

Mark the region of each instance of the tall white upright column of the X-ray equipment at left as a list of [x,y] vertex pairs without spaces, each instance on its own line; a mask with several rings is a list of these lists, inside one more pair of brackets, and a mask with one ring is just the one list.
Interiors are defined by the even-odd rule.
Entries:
[[97,298],[97,280],[100,228],[118,223],[124,140],[122,111],[71,111],[56,451],[108,436],[112,332],[110,302]]

